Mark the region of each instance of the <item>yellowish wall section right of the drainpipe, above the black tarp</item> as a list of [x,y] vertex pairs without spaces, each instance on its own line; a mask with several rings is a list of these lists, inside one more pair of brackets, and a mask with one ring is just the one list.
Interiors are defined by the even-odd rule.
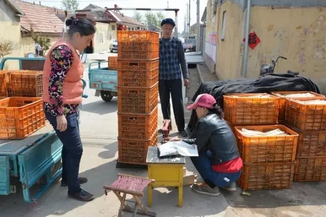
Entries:
[[261,64],[284,56],[288,60],[278,62],[276,72],[300,71],[326,92],[326,8],[255,6],[250,24],[254,31],[261,42],[249,48],[248,77],[257,77]]

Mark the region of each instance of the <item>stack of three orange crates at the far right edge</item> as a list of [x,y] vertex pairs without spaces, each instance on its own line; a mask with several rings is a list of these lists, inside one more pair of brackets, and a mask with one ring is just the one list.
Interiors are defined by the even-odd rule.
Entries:
[[325,181],[326,98],[287,99],[285,123],[299,134],[294,181]]

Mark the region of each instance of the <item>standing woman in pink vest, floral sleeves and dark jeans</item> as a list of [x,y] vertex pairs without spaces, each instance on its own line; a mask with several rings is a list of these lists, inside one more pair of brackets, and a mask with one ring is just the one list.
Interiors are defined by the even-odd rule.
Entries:
[[76,114],[83,94],[83,65],[78,51],[90,45],[96,29],[91,21],[73,17],[66,25],[68,37],[53,45],[45,59],[43,110],[63,143],[61,186],[68,185],[70,198],[91,201],[94,196],[80,188],[87,178],[78,178],[83,146]]

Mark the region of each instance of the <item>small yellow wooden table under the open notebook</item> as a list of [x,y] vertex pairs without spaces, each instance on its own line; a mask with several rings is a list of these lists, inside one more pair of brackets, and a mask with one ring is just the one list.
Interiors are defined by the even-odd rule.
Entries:
[[148,185],[148,206],[152,206],[152,191],[154,187],[178,187],[178,206],[183,205],[183,156],[158,157],[157,147],[150,146],[147,152],[148,178],[154,183]]

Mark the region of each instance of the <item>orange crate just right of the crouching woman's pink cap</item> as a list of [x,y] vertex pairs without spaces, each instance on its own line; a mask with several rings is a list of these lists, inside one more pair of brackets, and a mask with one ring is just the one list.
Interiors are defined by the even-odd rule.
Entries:
[[[253,98],[268,95],[270,98]],[[240,97],[237,97],[240,96]],[[279,97],[269,94],[224,95],[224,119],[231,124],[277,123]]]

